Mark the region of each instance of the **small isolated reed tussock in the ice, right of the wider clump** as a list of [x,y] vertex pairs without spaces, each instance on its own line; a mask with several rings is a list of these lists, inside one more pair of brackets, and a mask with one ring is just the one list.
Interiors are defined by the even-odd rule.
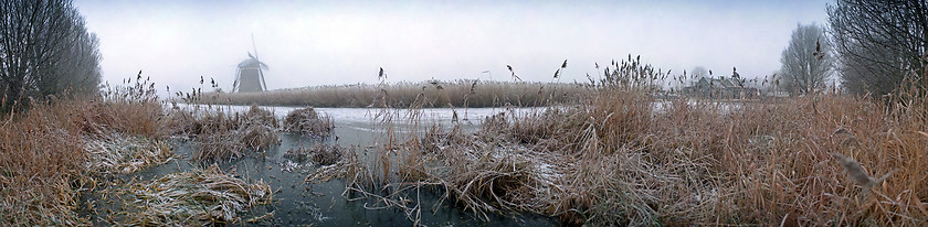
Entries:
[[326,138],[335,129],[331,116],[319,115],[313,107],[295,109],[284,118],[284,130],[300,132],[307,137]]

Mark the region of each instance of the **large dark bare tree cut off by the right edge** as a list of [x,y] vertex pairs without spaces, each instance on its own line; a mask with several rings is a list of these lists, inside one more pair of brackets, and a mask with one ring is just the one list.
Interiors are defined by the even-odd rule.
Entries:
[[837,0],[829,22],[844,86],[851,91],[888,94],[906,76],[925,89],[928,1]]

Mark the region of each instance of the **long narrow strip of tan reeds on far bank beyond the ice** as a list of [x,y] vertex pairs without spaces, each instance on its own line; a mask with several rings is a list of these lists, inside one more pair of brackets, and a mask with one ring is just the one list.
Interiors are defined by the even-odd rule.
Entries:
[[458,79],[398,84],[315,86],[264,93],[204,93],[189,102],[313,107],[499,107],[549,106],[589,97],[583,84]]

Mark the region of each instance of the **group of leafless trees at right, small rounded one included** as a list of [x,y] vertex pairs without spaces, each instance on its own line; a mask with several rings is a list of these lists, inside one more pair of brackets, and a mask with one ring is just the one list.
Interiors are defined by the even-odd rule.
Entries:
[[783,89],[812,93],[834,75],[846,90],[874,97],[928,88],[928,1],[836,0],[826,10],[829,28],[793,31],[778,73]]

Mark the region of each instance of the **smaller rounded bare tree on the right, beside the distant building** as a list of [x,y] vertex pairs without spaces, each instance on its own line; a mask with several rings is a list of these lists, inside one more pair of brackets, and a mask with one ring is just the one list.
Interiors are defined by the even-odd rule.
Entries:
[[781,86],[792,95],[809,94],[825,86],[834,66],[832,44],[816,24],[797,25],[780,56]]

